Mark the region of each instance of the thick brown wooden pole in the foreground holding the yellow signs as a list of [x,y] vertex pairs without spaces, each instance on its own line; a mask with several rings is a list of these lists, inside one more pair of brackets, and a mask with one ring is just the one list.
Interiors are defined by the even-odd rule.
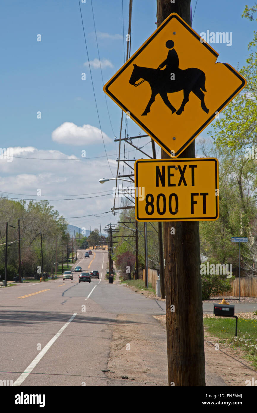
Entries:
[[[191,25],[190,3],[157,0],[157,26],[174,12]],[[195,143],[179,158],[195,158]],[[169,386],[205,386],[199,223],[164,222],[163,233]]]

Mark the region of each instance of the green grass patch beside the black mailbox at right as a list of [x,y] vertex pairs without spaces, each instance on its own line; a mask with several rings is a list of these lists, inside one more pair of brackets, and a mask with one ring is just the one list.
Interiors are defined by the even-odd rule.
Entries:
[[237,337],[234,318],[204,318],[203,324],[211,335],[219,337],[220,343],[242,349],[245,352],[244,357],[257,367],[257,320],[238,318]]

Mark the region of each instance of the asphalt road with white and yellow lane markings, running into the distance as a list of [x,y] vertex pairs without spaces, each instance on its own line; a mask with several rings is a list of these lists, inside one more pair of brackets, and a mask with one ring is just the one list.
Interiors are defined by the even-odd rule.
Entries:
[[[0,380],[14,386],[106,386],[109,343],[120,313],[165,314],[165,303],[104,280],[108,253],[76,265],[100,279],[0,289]],[[124,380],[123,380],[124,382]],[[112,384],[117,385],[117,384]]]

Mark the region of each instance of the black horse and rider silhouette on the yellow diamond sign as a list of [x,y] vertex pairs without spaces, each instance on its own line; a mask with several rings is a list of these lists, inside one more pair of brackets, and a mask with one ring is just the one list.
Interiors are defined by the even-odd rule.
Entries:
[[[167,40],[166,47],[169,49],[167,59],[160,64],[158,69],[141,67],[134,64],[129,83],[133,86],[139,86],[146,81],[151,87],[151,98],[141,116],[146,116],[150,112],[151,105],[158,94],[163,99],[166,106],[171,110],[172,114],[176,112],[177,115],[181,115],[184,111],[185,104],[189,102],[189,94],[191,92],[200,99],[203,111],[209,113],[209,109],[207,109],[204,102],[205,95],[203,93],[207,91],[205,89],[205,73],[195,67],[179,69],[179,57],[174,50],[173,40]],[[163,69],[164,67],[165,69]],[[173,80],[171,80],[171,74],[174,74]],[[143,80],[136,83],[139,79]],[[180,90],[183,90],[184,99],[180,108],[176,110],[170,103],[167,93],[179,92]]]

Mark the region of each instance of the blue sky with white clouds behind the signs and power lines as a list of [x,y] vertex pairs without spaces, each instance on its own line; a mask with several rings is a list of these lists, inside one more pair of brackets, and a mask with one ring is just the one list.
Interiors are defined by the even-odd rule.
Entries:
[[[246,1],[246,0],[245,0]],[[92,0],[98,36],[99,54],[106,83],[124,63],[123,23],[127,34],[128,4],[123,0]],[[254,2],[248,2],[253,5]],[[97,44],[92,19],[91,1],[80,3],[90,62],[93,62],[92,77],[96,100],[104,133],[106,151],[116,154],[118,145],[113,142],[113,131],[118,136],[121,110],[108,97],[107,103],[113,131],[106,109],[105,95],[100,69],[97,68]],[[194,11],[196,0],[192,0]],[[218,62],[226,62],[239,68],[248,56],[247,45],[252,40],[256,22],[243,19],[243,0],[198,0],[193,18],[193,29],[198,32],[232,32],[233,43],[212,44],[219,53]],[[37,190],[47,199],[53,195],[79,195],[94,192],[112,191],[113,182],[100,185],[103,176],[111,178],[104,156],[101,134],[97,133],[99,120],[88,61],[78,0],[2,1],[1,2],[1,99],[0,133],[1,147],[13,147],[18,157],[44,159],[81,159],[81,151],[86,151],[86,159],[79,161],[48,161],[14,158],[12,162],[0,159],[0,190],[28,194],[37,198]],[[131,55],[156,29],[156,0],[134,0],[132,9]],[[37,41],[37,35],[42,41]],[[95,64],[94,64],[95,63]],[[81,80],[85,72],[86,80]],[[37,119],[37,112],[41,119]],[[81,128],[89,125],[87,135],[80,139],[70,139],[66,122]],[[52,133],[65,124],[59,132]],[[70,125],[71,126],[71,125]],[[75,127],[74,126],[74,127]],[[73,127],[73,128],[74,128]],[[94,128],[92,128],[94,127]],[[127,122],[131,136],[137,135],[140,128],[132,120]],[[70,130],[70,128],[68,128]],[[207,129],[200,137],[207,137]],[[81,132],[81,131],[80,131]],[[83,131],[82,131],[83,132]],[[141,131],[142,132],[142,131]],[[124,129],[123,129],[124,135]],[[142,146],[149,139],[137,142]],[[157,147],[157,145],[156,145]],[[149,149],[147,149],[149,148]],[[158,151],[157,147],[157,151]],[[141,158],[132,147],[127,156]],[[146,145],[151,150],[151,145]],[[52,152],[54,151],[54,152]],[[159,151],[160,155],[160,151]],[[109,162],[113,175],[116,175],[116,156]],[[122,171],[122,169],[121,169]],[[125,173],[128,169],[125,169]],[[107,192],[106,192],[107,193]],[[48,196],[49,195],[49,196]],[[101,195],[101,194],[96,194]],[[18,195],[9,195],[18,197]],[[86,196],[86,195],[85,195]],[[90,195],[88,195],[90,196]],[[25,198],[25,197],[24,197]],[[61,197],[60,197],[61,198]],[[120,200],[119,200],[120,202]],[[100,214],[113,206],[112,195],[91,199],[51,202],[54,208],[65,217]],[[101,218],[76,218],[68,220],[80,227],[97,226],[116,222],[117,216],[108,214]]]

